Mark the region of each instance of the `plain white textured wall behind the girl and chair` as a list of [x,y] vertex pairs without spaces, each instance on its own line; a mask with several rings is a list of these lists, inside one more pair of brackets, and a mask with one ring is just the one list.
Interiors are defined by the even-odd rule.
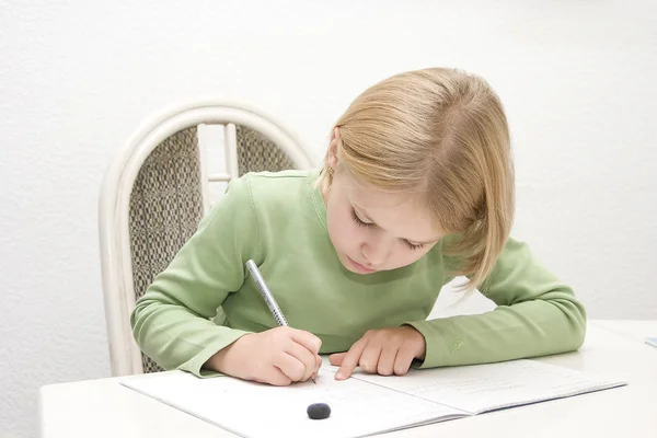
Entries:
[[516,235],[591,318],[657,318],[657,3],[447,4],[0,0],[0,436],[36,435],[39,385],[110,374],[101,178],[143,118],[195,97],[261,106],[321,155],[372,82],[482,73],[510,119]]

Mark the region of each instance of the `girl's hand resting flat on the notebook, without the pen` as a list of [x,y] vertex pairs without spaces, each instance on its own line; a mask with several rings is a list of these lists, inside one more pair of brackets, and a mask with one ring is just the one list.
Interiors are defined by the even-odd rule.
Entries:
[[366,372],[382,376],[405,374],[413,359],[424,359],[424,336],[410,325],[394,328],[370,330],[348,351],[328,357],[331,365],[339,367],[335,378],[345,380],[360,367]]

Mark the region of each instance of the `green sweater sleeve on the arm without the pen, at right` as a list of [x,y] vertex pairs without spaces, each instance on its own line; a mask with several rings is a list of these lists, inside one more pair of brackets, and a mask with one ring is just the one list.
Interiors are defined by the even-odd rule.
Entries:
[[581,346],[584,307],[527,244],[509,239],[480,290],[497,304],[495,310],[406,323],[426,339],[419,368],[512,360]]

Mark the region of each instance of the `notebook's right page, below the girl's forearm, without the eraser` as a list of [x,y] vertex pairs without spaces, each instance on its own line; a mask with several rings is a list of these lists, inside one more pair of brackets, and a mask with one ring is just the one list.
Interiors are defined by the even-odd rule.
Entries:
[[626,384],[534,360],[413,369],[406,376],[355,377],[471,414]]

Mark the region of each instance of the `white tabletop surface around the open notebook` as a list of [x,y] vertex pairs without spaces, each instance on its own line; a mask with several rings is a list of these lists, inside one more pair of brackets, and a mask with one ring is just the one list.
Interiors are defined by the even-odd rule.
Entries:
[[[541,358],[587,372],[618,372],[630,384],[608,391],[412,428],[385,437],[657,437],[657,321],[591,321],[575,353]],[[172,371],[177,372],[177,371]],[[43,387],[43,438],[232,437],[118,381]]]

